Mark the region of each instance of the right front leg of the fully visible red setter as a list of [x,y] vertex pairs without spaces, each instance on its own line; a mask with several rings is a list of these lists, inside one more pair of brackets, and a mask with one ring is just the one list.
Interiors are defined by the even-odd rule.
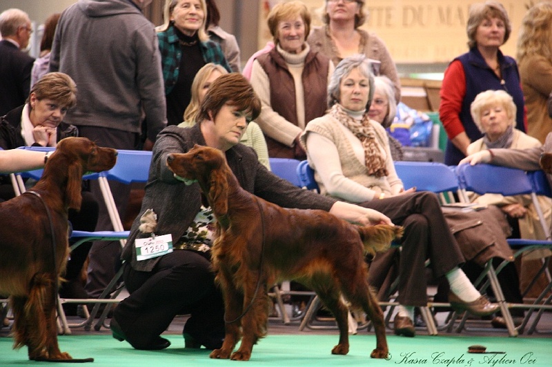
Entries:
[[[261,275],[262,276],[262,275]],[[232,353],[230,359],[248,361],[251,357],[253,345],[266,334],[268,323],[268,299],[264,282],[257,289],[259,281],[257,272],[249,272],[244,279],[244,316],[242,317],[242,344]]]

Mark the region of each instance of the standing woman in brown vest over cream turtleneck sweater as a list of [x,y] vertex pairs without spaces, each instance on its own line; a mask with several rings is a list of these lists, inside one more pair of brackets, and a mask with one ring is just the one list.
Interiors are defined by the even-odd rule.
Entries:
[[251,85],[262,101],[257,123],[270,157],[305,159],[299,136],[308,121],[325,112],[333,65],[306,43],[310,26],[304,3],[278,3],[268,14],[276,46],[253,61]]

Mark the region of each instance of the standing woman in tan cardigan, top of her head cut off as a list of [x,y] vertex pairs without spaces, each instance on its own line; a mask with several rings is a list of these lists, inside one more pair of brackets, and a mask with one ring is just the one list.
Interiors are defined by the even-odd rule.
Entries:
[[335,66],[353,54],[365,54],[371,61],[374,75],[385,75],[393,81],[395,101],[400,101],[397,66],[384,41],[359,28],[367,17],[364,0],[325,0],[324,3],[326,25],[313,27],[307,43],[313,50],[326,54]]

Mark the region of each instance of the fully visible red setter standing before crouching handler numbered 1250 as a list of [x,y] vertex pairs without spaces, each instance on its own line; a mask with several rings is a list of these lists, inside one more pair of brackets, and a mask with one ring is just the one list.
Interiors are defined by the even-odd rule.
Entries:
[[[224,293],[226,336],[211,358],[247,361],[253,345],[266,335],[268,287],[282,279],[315,290],[339,326],[333,354],[349,350],[347,313],[340,295],[362,308],[375,327],[373,358],[388,346],[382,310],[371,292],[364,255],[386,250],[402,227],[355,226],[324,210],[284,209],[244,190],[217,149],[195,146],[168,155],[176,175],[197,180],[218,221],[213,266]],[[233,353],[243,333],[242,344]]]

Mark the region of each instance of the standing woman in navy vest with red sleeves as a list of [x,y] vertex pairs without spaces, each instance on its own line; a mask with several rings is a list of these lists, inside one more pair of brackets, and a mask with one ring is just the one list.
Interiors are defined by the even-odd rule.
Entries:
[[470,106],[475,96],[488,89],[505,90],[517,106],[516,128],[525,131],[526,115],[520,72],[515,59],[500,51],[511,34],[511,23],[501,3],[475,3],[466,26],[469,52],[454,59],[444,72],[439,117],[449,141],[444,163],[457,165],[472,141],[482,137]]

